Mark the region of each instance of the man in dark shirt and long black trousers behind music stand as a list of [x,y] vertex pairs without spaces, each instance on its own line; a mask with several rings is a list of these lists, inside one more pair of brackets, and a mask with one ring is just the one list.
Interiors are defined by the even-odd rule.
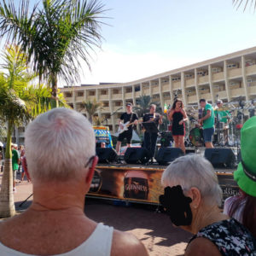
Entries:
[[[163,123],[163,117],[159,113],[155,113],[156,106],[151,104],[149,107],[149,113],[145,113],[143,116],[143,122],[154,122],[157,126]],[[157,140],[157,132],[149,133],[145,131],[144,133],[144,142],[143,148],[147,148],[151,154],[151,157],[154,157],[155,144]]]

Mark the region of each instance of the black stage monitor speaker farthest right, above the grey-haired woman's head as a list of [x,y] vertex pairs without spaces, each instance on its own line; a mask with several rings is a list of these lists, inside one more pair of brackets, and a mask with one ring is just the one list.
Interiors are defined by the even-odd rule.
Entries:
[[213,167],[234,168],[236,155],[231,148],[206,148],[205,158],[212,163]]

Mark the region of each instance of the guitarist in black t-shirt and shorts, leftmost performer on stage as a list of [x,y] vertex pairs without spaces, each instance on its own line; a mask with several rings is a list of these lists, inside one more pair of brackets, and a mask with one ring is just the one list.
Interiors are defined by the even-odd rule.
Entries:
[[[124,128],[124,124],[127,122],[133,123],[133,125],[137,125],[137,113],[132,112],[132,103],[126,103],[126,112],[123,113],[119,119],[119,127],[121,129]],[[115,150],[117,154],[120,152],[120,146],[122,141],[126,138],[127,147],[131,148],[131,137],[132,137],[132,127],[133,125],[128,126],[128,130],[123,131],[119,134],[118,141],[116,143]]]

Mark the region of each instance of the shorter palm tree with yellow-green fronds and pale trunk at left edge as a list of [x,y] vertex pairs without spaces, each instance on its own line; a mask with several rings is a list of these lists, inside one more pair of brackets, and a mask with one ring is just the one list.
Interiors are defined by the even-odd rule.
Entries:
[[[7,123],[7,143],[0,191],[0,218],[15,215],[11,153],[12,131],[15,125],[24,124],[32,119],[32,116],[50,108],[50,105],[44,108],[44,104],[41,103],[45,98],[50,97],[49,90],[47,93],[41,88],[38,90],[38,97],[32,94],[36,88],[30,83],[35,76],[27,71],[26,55],[20,54],[20,49],[17,47],[11,47],[3,55],[3,61],[2,68],[5,73],[0,73],[0,116],[1,120]],[[43,96],[42,91],[44,91]],[[42,99],[41,102],[38,101],[39,98]],[[41,108],[35,108],[37,105],[41,105]]]

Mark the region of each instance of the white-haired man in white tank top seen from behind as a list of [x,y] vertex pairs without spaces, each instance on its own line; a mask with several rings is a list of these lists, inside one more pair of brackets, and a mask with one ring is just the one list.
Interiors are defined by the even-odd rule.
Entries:
[[0,255],[148,255],[131,234],[84,215],[97,163],[95,135],[81,113],[55,108],[26,129],[32,206],[0,224]]

